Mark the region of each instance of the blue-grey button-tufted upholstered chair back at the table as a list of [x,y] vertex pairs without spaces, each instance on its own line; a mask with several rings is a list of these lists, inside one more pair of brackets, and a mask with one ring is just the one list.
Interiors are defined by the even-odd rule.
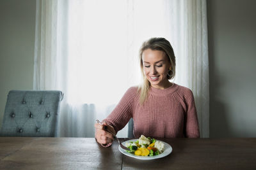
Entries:
[[9,92],[0,136],[56,136],[63,93],[57,90]]

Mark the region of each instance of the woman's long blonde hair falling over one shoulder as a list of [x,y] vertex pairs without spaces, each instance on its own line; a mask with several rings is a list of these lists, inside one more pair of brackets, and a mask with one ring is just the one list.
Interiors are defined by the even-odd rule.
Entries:
[[[175,76],[175,55],[173,52],[172,45],[168,40],[165,38],[150,38],[147,41],[145,41],[140,48],[140,68],[141,68],[141,73],[143,76],[143,83],[139,86],[138,92],[140,92],[140,104],[142,105],[148,96],[148,90],[150,88],[150,82],[147,80],[146,76],[143,73],[143,60],[142,60],[142,54],[145,50],[151,49],[151,50],[159,50],[165,53],[166,57],[168,57],[170,64],[171,64],[171,69],[168,71],[168,74],[166,78],[168,80],[171,80]],[[172,74],[170,74],[172,73]]]

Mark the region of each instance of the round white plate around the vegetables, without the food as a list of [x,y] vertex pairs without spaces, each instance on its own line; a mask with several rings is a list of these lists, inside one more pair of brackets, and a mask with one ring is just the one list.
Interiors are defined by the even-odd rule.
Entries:
[[[122,144],[125,146],[125,143],[129,143],[129,142],[134,142],[134,141],[138,141],[138,139],[131,139],[128,141],[124,141]],[[159,140],[158,140],[159,141]],[[118,146],[118,149],[120,150],[120,152],[122,152],[124,155],[127,155],[128,157],[133,157],[135,159],[141,159],[141,160],[151,160],[151,159],[159,159],[162,157],[166,157],[167,155],[169,155],[172,152],[172,146],[170,146],[168,143],[165,143],[164,141],[161,141],[164,143],[164,152],[156,155],[156,156],[152,156],[152,157],[148,157],[148,156],[137,156],[134,155],[133,153],[129,153],[126,152],[126,150],[124,150],[123,148],[121,148],[121,146]]]

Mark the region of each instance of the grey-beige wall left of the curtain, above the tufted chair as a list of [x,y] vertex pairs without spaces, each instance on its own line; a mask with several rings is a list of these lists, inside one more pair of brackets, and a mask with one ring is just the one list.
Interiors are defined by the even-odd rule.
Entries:
[[35,0],[0,1],[0,125],[9,90],[33,89]]

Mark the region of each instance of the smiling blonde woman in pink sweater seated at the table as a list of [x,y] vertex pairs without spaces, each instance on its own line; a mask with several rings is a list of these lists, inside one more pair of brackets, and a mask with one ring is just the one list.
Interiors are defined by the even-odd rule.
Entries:
[[[134,120],[134,137],[141,134],[152,138],[199,138],[193,93],[169,80],[175,76],[175,55],[170,42],[151,38],[140,49],[143,84],[125,92],[115,110],[95,124],[95,138],[102,146],[110,146],[113,135],[104,131],[120,131]],[[105,127],[106,128],[106,127]]]

